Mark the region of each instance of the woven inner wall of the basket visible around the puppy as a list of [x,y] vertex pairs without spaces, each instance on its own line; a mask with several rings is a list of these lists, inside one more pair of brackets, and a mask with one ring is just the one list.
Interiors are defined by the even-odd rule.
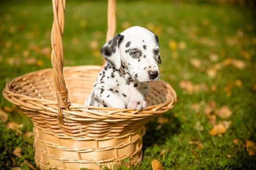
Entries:
[[[90,95],[101,66],[64,67],[63,76],[68,89],[68,100],[75,104],[84,104]],[[16,79],[11,91],[32,98],[57,101],[56,88],[52,78],[52,68],[28,73]],[[167,94],[167,95],[166,95]],[[147,106],[162,104],[168,98],[166,83],[159,81],[150,84],[150,93],[146,97]]]

